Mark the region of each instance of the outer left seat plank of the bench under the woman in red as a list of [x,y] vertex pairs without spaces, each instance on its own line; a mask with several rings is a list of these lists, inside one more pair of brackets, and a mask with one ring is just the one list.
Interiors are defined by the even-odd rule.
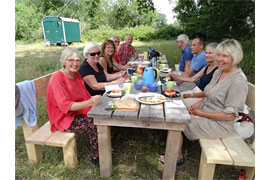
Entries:
[[51,132],[50,122],[48,121],[31,136],[25,138],[26,143],[45,145],[46,140],[55,132]]

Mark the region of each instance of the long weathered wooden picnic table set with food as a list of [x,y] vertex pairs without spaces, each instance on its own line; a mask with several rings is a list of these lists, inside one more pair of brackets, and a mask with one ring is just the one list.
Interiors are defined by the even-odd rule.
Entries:
[[[160,76],[164,76],[164,74],[161,73]],[[164,90],[165,87],[159,86],[156,93],[161,93],[162,89]],[[177,87],[175,86],[174,89],[177,90]],[[131,93],[125,94],[121,99],[135,100],[138,93],[140,91],[132,86]],[[109,178],[112,174],[110,127],[118,126],[168,130],[163,179],[174,179],[181,131],[184,130],[185,123],[190,121],[187,109],[185,107],[179,108],[173,102],[181,100],[181,97],[167,98],[166,102],[157,105],[139,103],[139,109],[136,112],[105,110],[106,107],[119,99],[110,98],[104,93],[100,104],[88,112],[88,116],[94,118],[94,124],[97,126],[101,175]]]

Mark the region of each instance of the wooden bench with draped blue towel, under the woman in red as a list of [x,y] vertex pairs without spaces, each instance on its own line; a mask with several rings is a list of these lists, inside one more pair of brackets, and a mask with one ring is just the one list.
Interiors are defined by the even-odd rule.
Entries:
[[[45,96],[51,74],[34,79],[36,87],[36,99]],[[28,126],[23,118],[23,133],[25,138],[27,155],[30,163],[37,163],[42,160],[41,145],[55,146],[63,148],[65,166],[74,168],[78,163],[77,147],[75,133],[66,133],[61,131],[51,132],[50,122],[48,121],[42,127]]]

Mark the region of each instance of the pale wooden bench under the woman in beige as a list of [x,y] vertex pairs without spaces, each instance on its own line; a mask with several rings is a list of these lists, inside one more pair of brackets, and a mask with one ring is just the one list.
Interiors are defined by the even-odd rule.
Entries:
[[[255,112],[255,86],[248,84],[247,106]],[[251,180],[255,174],[255,146],[253,148],[234,132],[227,138],[220,139],[200,139],[202,152],[199,169],[201,180],[213,179],[216,164],[245,166],[246,179]]]

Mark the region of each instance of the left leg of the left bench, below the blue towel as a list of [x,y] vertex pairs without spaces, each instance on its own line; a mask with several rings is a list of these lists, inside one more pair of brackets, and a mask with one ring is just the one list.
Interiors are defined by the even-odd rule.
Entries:
[[25,143],[28,160],[31,164],[35,164],[42,160],[41,145]]

